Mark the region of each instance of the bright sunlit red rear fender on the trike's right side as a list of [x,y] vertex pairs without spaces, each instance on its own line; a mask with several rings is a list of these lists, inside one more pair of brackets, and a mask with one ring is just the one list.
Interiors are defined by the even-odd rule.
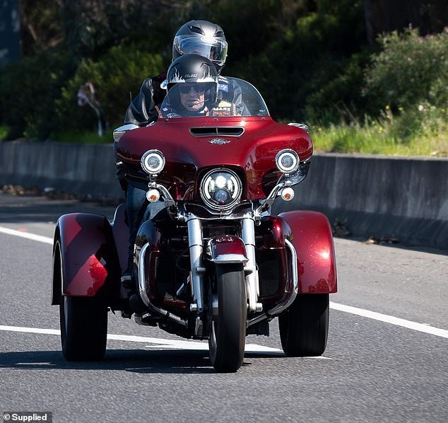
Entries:
[[326,216],[296,211],[279,214],[291,228],[297,253],[299,294],[334,294],[338,290],[333,235]]

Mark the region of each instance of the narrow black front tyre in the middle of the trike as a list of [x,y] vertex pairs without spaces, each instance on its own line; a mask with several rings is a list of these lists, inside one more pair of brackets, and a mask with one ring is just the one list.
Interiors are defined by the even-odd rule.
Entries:
[[[218,315],[211,313],[208,338],[211,364],[221,373],[242,366],[246,337],[247,300],[242,265],[216,265]],[[213,294],[211,295],[213,297]],[[213,308],[213,301],[211,309]]]

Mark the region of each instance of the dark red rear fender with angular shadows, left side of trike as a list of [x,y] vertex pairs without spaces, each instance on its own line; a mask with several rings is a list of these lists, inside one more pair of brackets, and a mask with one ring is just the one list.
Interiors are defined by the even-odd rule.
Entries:
[[[60,247],[62,263],[57,248]],[[52,304],[60,293],[69,296],[113,295],[119,290],[120,268],[112,226],[105,216],[88,213],[64,214],[57,221],[53,248]]]

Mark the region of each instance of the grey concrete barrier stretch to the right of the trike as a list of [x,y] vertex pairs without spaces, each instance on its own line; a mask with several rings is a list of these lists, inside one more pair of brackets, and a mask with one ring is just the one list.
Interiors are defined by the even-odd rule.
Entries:
[[448,159],[316,154],[278,209],[314,209],[354,236],[448,249]]

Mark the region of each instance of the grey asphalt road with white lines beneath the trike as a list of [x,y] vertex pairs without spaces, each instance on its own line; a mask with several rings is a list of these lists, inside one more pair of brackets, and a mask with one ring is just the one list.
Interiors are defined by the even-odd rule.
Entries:
[[240,371],[217,374],[206,343],[110,315],[115,336],[105,359],[70,363],[58,308],[49,305],[47,241],[57,216],[86,210],[113,212],[0,194],[0,418],[47,411],[53,422],[448,421],[447,251],[336,239],[339,292],[323,358],[286,358],[274,320],[270,337],[247,337]]

